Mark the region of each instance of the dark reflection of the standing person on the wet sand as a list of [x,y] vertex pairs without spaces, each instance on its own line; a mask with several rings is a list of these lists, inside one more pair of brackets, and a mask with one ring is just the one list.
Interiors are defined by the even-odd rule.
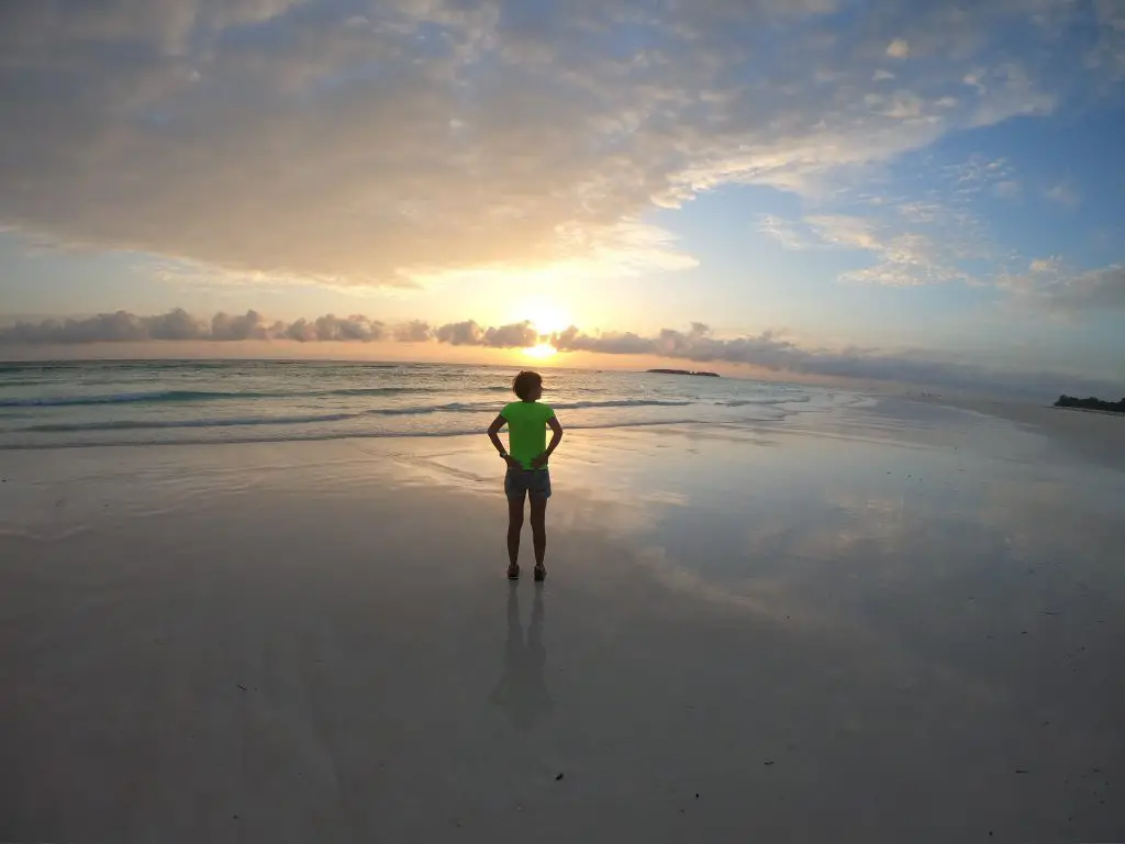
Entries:
[[504,676],[488,700],[507,710],[520,729],[551,710],[551,695],[543,680],[547,649],[543,647],[543,587],[536,584],[536,601],[531,608],[528,638],[520,626],[520,592],[513,583],[507,592],[507,638],[504,641]]

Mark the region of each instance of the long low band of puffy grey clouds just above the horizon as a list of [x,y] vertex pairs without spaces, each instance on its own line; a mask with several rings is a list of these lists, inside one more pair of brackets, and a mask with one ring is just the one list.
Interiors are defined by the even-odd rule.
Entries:
[[[1054,262],[1045,262],[1038,272],[1055,272]],[[1083,273],[1066,294],[1071,302],[1083,300],[1090,307],[1115,303],[1125,307],[1125,268],[1110,267]],[[1095,386],[1094,381],[1063,378],[1056,374],[1007,371],[986,365],[948,361],[921,352],[890,352],[847,347],[843,349],[806,347],[775,331],[756,335],[718,338],[703,323],[692,323],[686,331],[662,329],[651,335],[633,332],[588,334],[576,326],[540,338],[530,323],[520,322],[484,327],[472,320],[448,323],[436,329],[420,321],[387,327],[378,320],[361,315],[340,318],[332,315],[291,323],[268,323],[261,314],[249,311],[242,316],[216,314],[210,321],[192,317],[182,309],[158,316],[137,316],[124,311],[83,320],[43,320],[0,327],[0,347],[40,344],[74,345],[89,343],[141,343],[195,340],[234,344],[238,341],[297,341],[370,343],[438,342],[460,347],[521,349],[540,340],[549,341],[560,352],[595,354],[651,356],[696,363],[747,365],[778,374],[816,376],[829,379],[858,379],[928,384],[955,389],[998,389],[1010,393],[1059,392]]]

